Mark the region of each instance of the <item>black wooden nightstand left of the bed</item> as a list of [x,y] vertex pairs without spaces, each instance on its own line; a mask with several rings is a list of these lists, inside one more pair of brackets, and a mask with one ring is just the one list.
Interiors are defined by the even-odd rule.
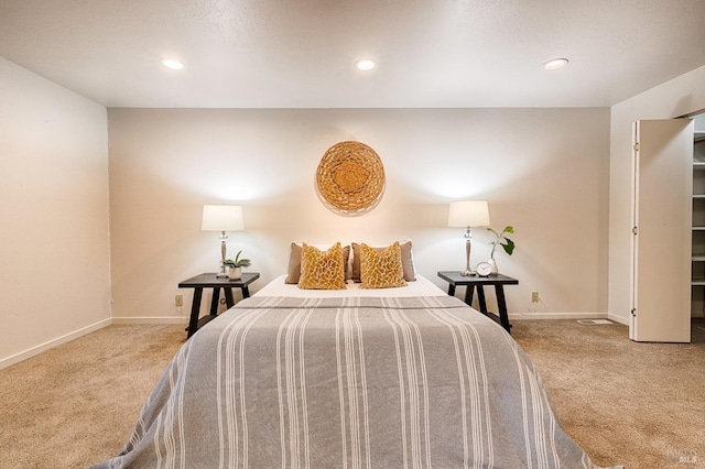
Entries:
[[[216,277],[216,273],[203,273],[178,284],[180,288],[194,288],[194,301],[191,304],[191,317],[188,319],[187,338],[193,336],[196,330],[206,323],[218,316],[218,302],[220,301],[220,288],[225,292],[225,303],[228,308],[235,305],[232,298],[232,288],[240,288],[242,298],[250,296],[250,283],[260,277],[256,272],[243,272],[240,280],[230,280]],[[200,316],[200,298],[203,297],[203,288],[213,288],[213,299],[210,302],[210,314],[198,319]]]

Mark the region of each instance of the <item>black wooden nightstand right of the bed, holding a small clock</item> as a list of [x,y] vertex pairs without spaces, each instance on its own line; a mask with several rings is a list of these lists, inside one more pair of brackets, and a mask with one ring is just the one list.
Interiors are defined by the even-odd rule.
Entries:
[[487,310],[485,302],[485,285],[495,285],[495,294],[497,295],[497,308],[499,309],[498,323],[502,325],[508,332],[511,334],[511,324],[509,324],[509,314],[507,313],[507,301],[505,299],[505,285],[518,285],[519,281],[502,274],[492,274],[489,276],[460,275],[460,272],[438,272],[438,276],[448,282],[448,295],[455,296],[456,286],[465,286],[465,303],[473,306],[473,295],[477,287],[477,302],[480,312],[492,319],[497,320],[497,316]]

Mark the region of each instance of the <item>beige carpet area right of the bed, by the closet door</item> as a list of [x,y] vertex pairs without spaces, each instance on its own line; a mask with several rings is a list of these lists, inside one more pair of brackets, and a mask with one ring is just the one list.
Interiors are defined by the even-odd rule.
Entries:
[[705,325],[692,343],[641,343],[626,326],[514,321],[568,434],[599,465],[705,468]]

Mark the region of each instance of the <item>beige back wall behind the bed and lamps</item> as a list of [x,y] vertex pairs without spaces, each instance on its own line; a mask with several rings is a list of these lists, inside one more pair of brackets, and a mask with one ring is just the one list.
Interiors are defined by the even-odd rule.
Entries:
[[[531,291],[536,314],[607,312],[608,109],[109,109],[108,122],[117,320],[188,314],[192,291],[177,283],[217,270],[218,233],[200,231],[200,214],[218,203],[245,207],[229,252],[252,259],[257,291],[285,272],[291,240],[411,238],[441,286],[436,271],[465,264],[447,204],[487,199],[492,226],[517,231],[514,255],[498,254],[520,281],[506,288],[510,313],[530,312]],[[321,157],[344,140],[373,148],[387,173],[382,201],[360,217],[315,192]],[[474,264],[489,240],[476,230]]]

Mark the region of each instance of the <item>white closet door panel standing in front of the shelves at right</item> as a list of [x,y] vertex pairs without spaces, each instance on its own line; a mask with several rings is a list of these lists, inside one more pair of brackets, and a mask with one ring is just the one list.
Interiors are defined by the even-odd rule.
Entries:
[[634,144],[629,337],[690,342],[693,121],[638,121]]

